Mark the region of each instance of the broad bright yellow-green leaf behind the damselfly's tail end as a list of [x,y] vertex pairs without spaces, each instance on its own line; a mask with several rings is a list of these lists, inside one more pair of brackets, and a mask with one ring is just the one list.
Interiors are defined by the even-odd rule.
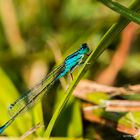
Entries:
[[[10,119],[8,113],[8,106],[19,98],[19,93],[12,81],[6,75],[6,73],[0,68],[0,123],[3,125]],[[26,123],[28,120],[28,123]],[[31,128],[31,115],[27,112],[23,117],[17,117],[17,119],[5,130],[4,134],[10,136],[17,136],[23,134],[29,128]],[[23,125],[24,124],[24,125]]]

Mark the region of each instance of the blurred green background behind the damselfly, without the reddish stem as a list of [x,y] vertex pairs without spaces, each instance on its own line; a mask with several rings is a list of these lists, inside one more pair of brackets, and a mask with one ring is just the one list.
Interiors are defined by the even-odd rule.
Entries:
[[[117,0],[126,7],[130,0]],[[0,124],[8,119],[7,107],[38,83],[52,68],[87,42],[91,48],[118,20],[119,14],[96,0],[1,0],[0,1]],[[112,85],[139,84],[140,30],[134,31],[125,63]],[[121,35],[101,55],[85,78],[97,80],[117,51]],[[93,69],[94,68],[94,69]],[[104,83],[104,82],[103,82]],[[6,136],[21,136],[37,123],[45,128],[63,97],[67,78],[57,82],[33,109],[27,111],[5,131]],[[109,132],[105,132],[109,129]],[[39,128],[30,137],[40,136]],[[121,134],[85,121],[81,101],[71,98],[52,132],[54,137],[121,139]]]

